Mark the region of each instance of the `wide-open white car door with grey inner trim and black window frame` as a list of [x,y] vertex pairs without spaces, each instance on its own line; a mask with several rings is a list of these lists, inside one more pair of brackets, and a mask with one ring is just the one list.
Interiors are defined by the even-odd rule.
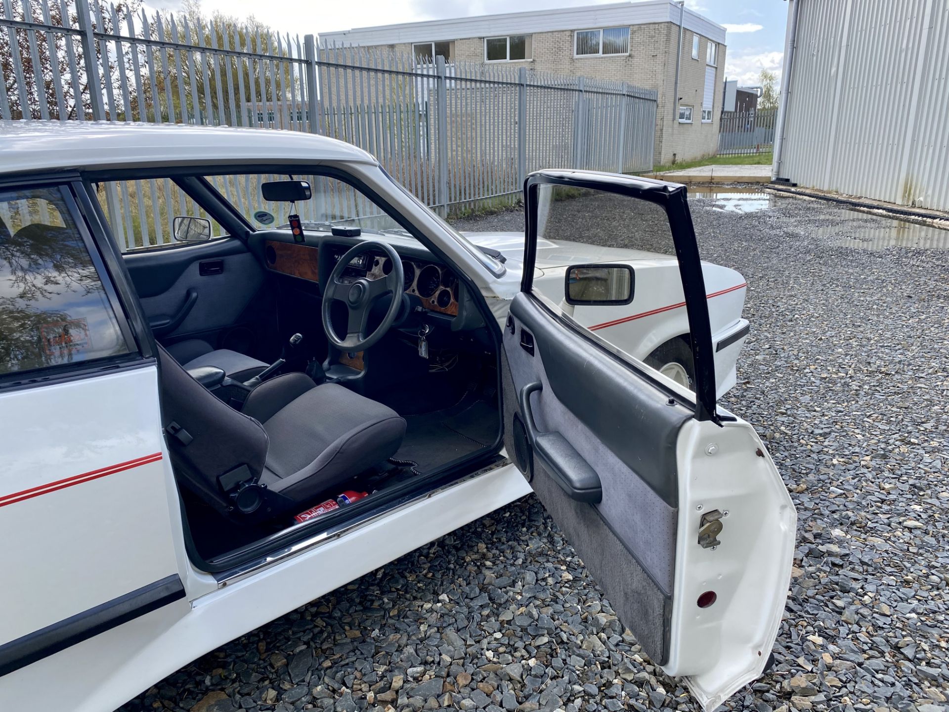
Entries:
[[[716,407],[707,295],[685,188],[545,171],[527,179],[525,205],[524,279],[504,329],[507,451],[623,625],[711,710],[760,676],[769,659],[796,513],[752,426]],[[565,302],[532,289],[538,242],[555,246],[583,234],[642,255],[569,269],[566,304],[615,307],[630,304],[633,290],[662,291],[673,306],[642,318],[685,309],[694,392],[580,326]]]

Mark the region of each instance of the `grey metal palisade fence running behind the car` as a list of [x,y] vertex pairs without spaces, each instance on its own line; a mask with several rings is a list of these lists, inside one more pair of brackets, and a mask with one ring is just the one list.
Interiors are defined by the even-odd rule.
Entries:
[[[652,168],[655,90],[525,68],[320,47],[230,19],[100,0],[0,0],[0,118],[175,122],[349,141],[443,215],[513,202],[538,168]],[[255,196],[241,192],[248,215]],[[126,247],[171,239],[167,181],[103,190]],[[153,230],[141,219],[158,206]],[[157,212],[153,210],[153,212]]]

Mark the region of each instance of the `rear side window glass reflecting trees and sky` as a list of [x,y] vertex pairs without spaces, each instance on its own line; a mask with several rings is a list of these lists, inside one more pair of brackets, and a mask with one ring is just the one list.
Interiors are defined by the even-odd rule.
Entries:
[[0,375],[127,352],[60,190],[0,191]]

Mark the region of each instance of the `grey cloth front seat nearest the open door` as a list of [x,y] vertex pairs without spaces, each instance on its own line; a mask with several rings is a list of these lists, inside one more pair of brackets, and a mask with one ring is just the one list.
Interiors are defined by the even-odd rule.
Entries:
[[[258,385],[237,412],[158,347],[162,424],[176,474],[218,511],[268,518],[335,496],[346,480],[393,456],[405,421],[338,384],[289,373]],[[250,485],[260,507],[237,501]],[[246,502],[245,502],[246,503]]]

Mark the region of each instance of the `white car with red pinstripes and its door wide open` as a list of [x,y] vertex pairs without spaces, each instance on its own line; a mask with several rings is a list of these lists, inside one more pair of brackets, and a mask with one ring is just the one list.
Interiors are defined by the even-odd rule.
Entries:
[[0,123],[0,709],[112,710],[531,490],[707,709],[757,678],[796,515],[716,404],[744,280],[680,185],[525,203],[462,235],[339,141]]

